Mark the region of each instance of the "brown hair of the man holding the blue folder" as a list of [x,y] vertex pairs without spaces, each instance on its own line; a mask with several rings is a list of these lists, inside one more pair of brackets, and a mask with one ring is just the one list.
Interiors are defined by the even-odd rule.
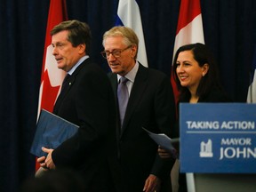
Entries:
[[85,44],[85,52],[88,54],[91,48],[92,34],[90,27],[79,20],[66,20],[60,22],[51,30],[51,36],[59,33],[60,31],[68,30],[68,41],[74,46]]

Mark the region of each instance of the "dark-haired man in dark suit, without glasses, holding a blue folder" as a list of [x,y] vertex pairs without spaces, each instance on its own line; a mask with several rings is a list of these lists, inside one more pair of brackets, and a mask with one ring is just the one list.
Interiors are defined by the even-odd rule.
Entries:
[[52,31],[52,54],[67,72],[53,113],[73,124],[78,132],[56,149],[38,158],[47,169],[68,168],[84,176],[85,191],[113,191],[108,157],[116,152],[116,104],[107,74],[88,56],[91,31],[87,24],[68,20]]

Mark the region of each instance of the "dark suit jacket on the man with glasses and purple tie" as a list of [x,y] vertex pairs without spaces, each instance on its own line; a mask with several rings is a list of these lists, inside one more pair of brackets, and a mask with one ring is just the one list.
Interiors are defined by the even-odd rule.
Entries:
[[[109,75],[116,95],[117,75]],[[171,135],[175,106],[170,79],[151,68],[140,65],[124,116],[122,132],[117,128],[119,162],[127,191],[142,191],[149,174],[163,181],[163,190],[170,188],[173,160],[161,159],[157,144],[141,127],[151,132]],[[166,188],[165,188],[165,187]],[[165,188],[165,190],[164,190]]]

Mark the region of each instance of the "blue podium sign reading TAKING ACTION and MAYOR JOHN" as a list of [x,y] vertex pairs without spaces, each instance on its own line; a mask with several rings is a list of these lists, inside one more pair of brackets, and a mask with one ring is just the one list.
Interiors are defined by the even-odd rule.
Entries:
[[256,172],[256,105],[180,104],[180,172]]

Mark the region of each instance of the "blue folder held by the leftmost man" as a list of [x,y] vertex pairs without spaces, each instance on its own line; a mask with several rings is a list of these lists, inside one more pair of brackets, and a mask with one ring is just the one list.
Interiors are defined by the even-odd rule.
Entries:
[[78,131],[78,127],[76,124],[42,109],[36,124],[36,134],[30,153],[38,157],[47,156],[42,147],[57,148],[62,142],[72,137]]

